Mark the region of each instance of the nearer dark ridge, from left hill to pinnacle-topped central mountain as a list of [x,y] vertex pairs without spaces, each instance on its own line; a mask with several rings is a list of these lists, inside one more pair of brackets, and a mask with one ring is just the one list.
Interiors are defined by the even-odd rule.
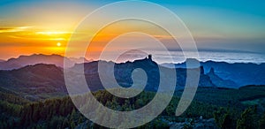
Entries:
[[[84,65],[87,85],[91,91],[97,91],[104,89],[98,73],[99,63],[101,63],[104,68],[102,73],[107,77],[110,77],[110,75],[113,74],[113,72],[110,71],[110,67],[114,65],[114,77],[121,87],[132,86],[132,72],[137,68],[141,68],[147,73],[148,80],[147,85],[145,85],[146,91],[157,91],[160,83],[160,76],[167,76],[164,74],[160,75],[158,65],[150,59],[141,59],[121,64],[106,61],[94,61],[85,64],[76,64],[72,68],[67,69],[66,72],[75,72],[74,75],[81,75],[77,70],[80,66]],[[162,69],[172,70],[178,73],[176,90],[183,89],[185,87],[186,69],[170,69],[166,67],[162,67]],[[202,70],[199,87],[216,87],[216,85],[210,80],[210,77],[204,74],[202,67],[194,70],[200,69]],[[76,85],[81,85],[79,80],[72,80],[72,82]],[[37,64],[27,65],[16,70],[2,70],[0,71],[0,87],[27,97],[29,100],[39,100],[50,96],[67,94],[64,84],[64,69],[58,67],[57,65]]]

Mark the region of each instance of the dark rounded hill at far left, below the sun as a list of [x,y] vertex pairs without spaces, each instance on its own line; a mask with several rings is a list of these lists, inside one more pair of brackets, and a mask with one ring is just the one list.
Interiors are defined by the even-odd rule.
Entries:
[[56,65],[27,65],[17,70],[0,71],[0,87],[31,100],[66,93],[63,69]]

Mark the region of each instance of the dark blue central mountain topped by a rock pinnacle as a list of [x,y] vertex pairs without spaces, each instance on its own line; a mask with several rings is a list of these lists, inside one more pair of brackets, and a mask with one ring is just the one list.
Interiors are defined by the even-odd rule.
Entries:
[[[115,64],[113,62],[106,62],[106,61],[95,61],[91,63],[84,64],[84,73],[86,74],[87,81],[89,87],[95,90],[99,86],[102,87],[101,80],[99,80],[99,74],[98,74],[98,64],[102,65],[102,74],[106,75],[107,77],[111,77],[113,72],[110,71],[112,65],[114,65],[114,76],[117,80],[118,85],[121,87],[131,87],[133,85],[132,80],[132,72],[133,70],[140,68],[144,70],[148,76],[148,82],[147,86],[145,87],[145,90],[147,91],[156,91],[159,87],[159,80],[160,80],[160,72],[158,65],[152,60],[148,58],[135,60],[133,62],[125,62],[120,64]],[[80,67],[82,64],[74,65],[70,71],[72,72],[79,72]],[[172,69],[167,67],[160,67],[162,69],[167,69],[170,71],[176,71],[177,73],[177,84],[176,89],[183,89],[186,85],[186,69],[184,68],[178,68],[178,69]],[[208,75],[204,74],[202,67],[193,68],[194,70],[201,70],[201,76],[200,76],[200,82],[199,87],[216,87],[214,85]],[[163,75],[166,76],[166,75]],[[89,78],[89,79],[88,79]],[[171,78],[171,77],[167,77]]]

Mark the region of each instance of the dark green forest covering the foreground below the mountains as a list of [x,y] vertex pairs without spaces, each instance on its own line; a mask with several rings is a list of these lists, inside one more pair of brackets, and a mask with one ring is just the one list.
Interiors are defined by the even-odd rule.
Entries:
[[[240,89],[199,88],[186,112],[175,117],[179,91],[158,118],[138,128],[169,128],[170,124],[177,122],[187,122],[185,127],[192,128],[196,119],[215,118],[216,125],[220,128],[262,129],[265,125],[264,89],[264,86]],[[139,109],[155,96],[155,93],[147,91],[130,99],[117,98],[105,90],[93,94],[98,101],[113,110]],[[68,96],[31,102],[4,89],[0,95],[0,128],[102,128],[82,116]],[[254,106],[246,104],[246,101],[257,99],[260,101]]]

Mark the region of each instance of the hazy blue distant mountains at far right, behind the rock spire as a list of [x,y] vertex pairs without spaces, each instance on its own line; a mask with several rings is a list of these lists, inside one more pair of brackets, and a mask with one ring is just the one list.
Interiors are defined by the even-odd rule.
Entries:
[[[193,59],[187,59],[193,60]],[[180,64],[162,64],[163,66],[172,68],[186,68],[186,62]],[[234,63],[207,61],[201,62],[204,73],[210,72],[211,68],[215,70],[215,74],[222,80],[232,80],[242,87],[246,85],[265,85],[265,64],[260,65],[253,63]],[[216,79],[217,80],[217,79]],[[232,83],[231,83],[232,84]],[[228,84],[228,85],[231,85]],[[223,84],[222,84],[223,85]],[[231,85],[232,86],[232,85]]]

